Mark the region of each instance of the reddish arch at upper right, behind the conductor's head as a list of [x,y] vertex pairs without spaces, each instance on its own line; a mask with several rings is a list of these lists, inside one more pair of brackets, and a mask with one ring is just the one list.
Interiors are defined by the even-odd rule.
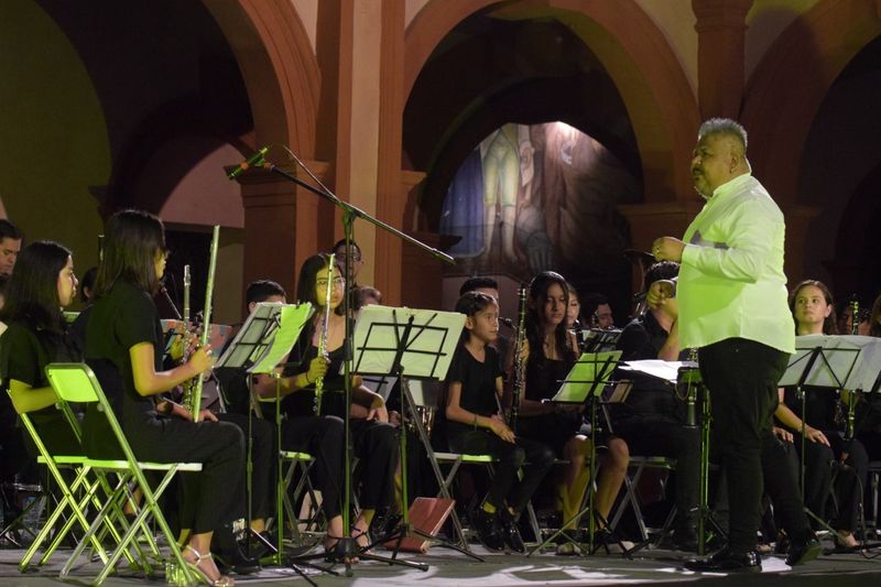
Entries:
[[881,2],[822,0],[793,21],[747,83],[741,120],[759,145],[757,175],[782,203],[798,203],[804,145],[826,94],[881,34]]

